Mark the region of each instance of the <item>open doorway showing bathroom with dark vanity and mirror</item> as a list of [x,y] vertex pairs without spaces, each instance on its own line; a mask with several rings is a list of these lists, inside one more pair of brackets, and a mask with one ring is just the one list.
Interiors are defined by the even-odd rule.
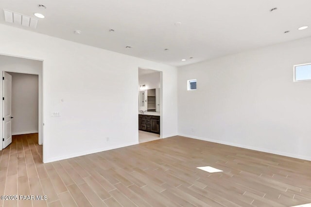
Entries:
[[138,68],[138,142],[160,139],[162,72]]

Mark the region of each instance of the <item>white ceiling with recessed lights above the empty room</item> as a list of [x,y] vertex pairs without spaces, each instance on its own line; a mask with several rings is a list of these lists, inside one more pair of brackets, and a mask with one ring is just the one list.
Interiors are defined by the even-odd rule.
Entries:
[[3,24],[175,66],[311,36],[311,0],[0,0],[0,8],[46,16],[32,30],[0,11]]

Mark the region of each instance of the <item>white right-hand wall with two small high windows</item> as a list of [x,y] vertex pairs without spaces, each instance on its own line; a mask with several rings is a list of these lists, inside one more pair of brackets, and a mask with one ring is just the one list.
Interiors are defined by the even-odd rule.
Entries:
[[310,54],[307,38],[178,68],[178,133],[311,160],[311,81],[293,81]]

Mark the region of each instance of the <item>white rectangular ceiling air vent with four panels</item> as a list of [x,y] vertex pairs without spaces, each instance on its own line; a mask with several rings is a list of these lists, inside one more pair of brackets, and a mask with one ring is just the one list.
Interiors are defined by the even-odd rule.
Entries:
[[33,17],[21,15],[21,14],[11,12],[8,10],[3,10],[3,11],[4,11],[4,18],[6,22],[14,23],[17,25],[22,25],[25,27],[30,27],[33,29],[37,27],[38,20]]

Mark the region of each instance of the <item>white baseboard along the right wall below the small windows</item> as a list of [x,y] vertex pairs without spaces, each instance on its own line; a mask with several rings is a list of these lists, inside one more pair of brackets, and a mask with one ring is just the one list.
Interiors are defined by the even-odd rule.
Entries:
[[212,143],[220,143],[220,144],[225,144],[225,145],[230,145],[230,146],[236,146],[236,147],[241,147],[241,148],[245,148],[245,149],[251,149],[251,150],[256,150],[256,151],[260,151],[260,152],[266,152],[266,153],[271,153],[271,154],[275,154],[275,155],[286,156],[286,157],[290,157],[290,158],[297,158],[297,159],[304,159],[304,160],[311,161],[311,157],[303,156],[303,155],[295,155],[295,154],[291,154],[291,153],[287,153],[287,152],[278,152],[278,151],[270,150],[270,149],[264,149],[264,148],[254,147],[254,146],[237,144],[237,143],[229,143],[229,142],[225,142],[225,141],[213,140],[213,139],[197,137],[197,136],[191,136],[191,135],[187,135],[187,134],[179,134],[179,136],[188,137],[188,138],[197,139],[197,140],[203,140],[203,141],[212,142]]

